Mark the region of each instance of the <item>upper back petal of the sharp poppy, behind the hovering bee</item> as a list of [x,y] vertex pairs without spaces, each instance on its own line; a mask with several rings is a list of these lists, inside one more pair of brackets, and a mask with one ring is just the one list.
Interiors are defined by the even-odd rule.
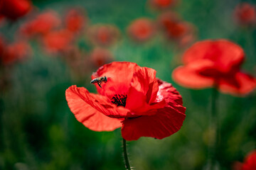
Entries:
[[107,82],[101,85],[102,88],[95,84],[99,94],[110,99],[115,94],[125,96],[132,81],[132,76],[138,68],[139,66],[132,62],[112,62],[100,67],[97,72],[92,74],[92,79],[107,77]]

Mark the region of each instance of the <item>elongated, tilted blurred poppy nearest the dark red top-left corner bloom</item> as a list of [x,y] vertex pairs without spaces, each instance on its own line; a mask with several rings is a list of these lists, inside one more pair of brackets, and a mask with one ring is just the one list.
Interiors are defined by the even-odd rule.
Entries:
[[32,37],[35,35],[45,35],[50,30],[58,28],[58,26],[60,26],[60,23],[60,18],[58,14],[55,13],[55,11],[46,11],[36,16],[36,18],[32,21],[24,23],[21,26],[19,33],[27,37]]

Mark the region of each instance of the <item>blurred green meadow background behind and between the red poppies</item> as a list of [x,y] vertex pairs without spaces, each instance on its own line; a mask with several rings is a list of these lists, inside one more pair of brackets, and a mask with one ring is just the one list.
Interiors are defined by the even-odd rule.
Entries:
[[[243,69],[256,76],[255,29],[240,28],[233,21],[233,9],[239,2],[182,0],[173,10],[197,27],[198,40],[227,38],[241,45],[247,55]],[[87,11],[91,24],[115,24],[122,32],[122,40],[110,47],[115,60],[156,69],[157,77],[174,84],[183,96],[187,116],[180,131],[163,140],[142,137],[128,142],[134,169],[203,169],[212,89],[191,90],[175,84],[171,72],[181,64],[176,60],[183,50],[160,36],[145,44],[127,38],[126,28],[132,20],[158,16],[146,4],[145,0],[33,1],[39,11],[50,8],[61,15],[65,8],[80,6]],[[7,33],[2,29],[1,33],[11,36],[14,30]],[[82,39],[78,46],[87,50]],[[78,78],[60,57],[49,57],[36,42],[31,46],[33,57],[11,68],[10,85],[1,91],[0,169],[124,169],[120,129],[88,130],[75,119],[65,101],[65,89],[73,84],[96,91],[90,84],[91,73]],[[216,152],[221,169],[231,169],[235,161],[242,162],[256,147],[255,95],[254,91],[244,98],[219,96],[220,146]]]

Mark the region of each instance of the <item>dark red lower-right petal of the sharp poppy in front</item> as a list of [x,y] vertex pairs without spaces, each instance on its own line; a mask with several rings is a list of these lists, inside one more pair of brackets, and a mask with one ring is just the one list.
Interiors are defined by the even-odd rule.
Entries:
[[163,139],[179,129],[185,119],[182,98],[171,84],[159,81],[158,98],[167,101],[164,108],[158,109],[155,115],[142,115],[139,118],[128,118],[122,121],[122,137],[125,140],[138,140],[139,137],[156,137]]

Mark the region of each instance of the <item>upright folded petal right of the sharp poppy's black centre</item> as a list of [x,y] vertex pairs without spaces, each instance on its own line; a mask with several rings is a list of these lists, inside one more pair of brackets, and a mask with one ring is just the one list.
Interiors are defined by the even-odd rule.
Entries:
[[[159,84],[156,79],[156,70],[141,67],[134,72],[131,86],[127,94],[126,108],[135,113],[146,113],[146,111],[163,108],[164,101],[153,103],[156,99]],[[149,115],[147,112],[146,115]]]

